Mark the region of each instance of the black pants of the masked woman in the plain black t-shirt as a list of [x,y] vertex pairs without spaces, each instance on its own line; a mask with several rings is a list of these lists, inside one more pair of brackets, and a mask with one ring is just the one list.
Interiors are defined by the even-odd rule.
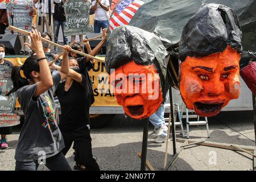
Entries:
[[89,171],[100,171],[100,167],[92,155],[92,138],[90,138],[89,129],[86,127],[86,129],[79,132],[74,132],[63,130],[60,127],[60,131],[65,143],[65,148],[62,150],[63,154],[66,155],[72,143],[75,142],[76,163],[83,164]]

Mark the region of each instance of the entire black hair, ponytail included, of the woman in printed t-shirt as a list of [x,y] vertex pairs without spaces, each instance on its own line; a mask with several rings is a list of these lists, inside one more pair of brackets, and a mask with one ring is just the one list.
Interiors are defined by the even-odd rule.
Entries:
[[[23,86],[30,84],[28,80],[32,80],[31,78],[32,71],[40,72],[40,67],[36,59],[37,59],[36,56],[30,56],[26,59],[26,61],[21,67],[19,66],[13,67],[13,70],[11,71],[11,80],[13,81],[13,89],[11,89],[10,92],[6,94],[6,96],[10,96],[11,93],[16,92],[18,89],[22,88]],[[20,70],[23,71],[24,76],[26,78],[23,78],[20,75]]]

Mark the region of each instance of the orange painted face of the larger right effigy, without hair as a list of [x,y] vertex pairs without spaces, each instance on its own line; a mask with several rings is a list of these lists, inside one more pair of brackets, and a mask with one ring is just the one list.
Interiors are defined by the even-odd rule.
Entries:
[[238,98],[240,57],[230,46],[205,57],[188,56],[180,64],[180,93],[187,108],[212,117]]

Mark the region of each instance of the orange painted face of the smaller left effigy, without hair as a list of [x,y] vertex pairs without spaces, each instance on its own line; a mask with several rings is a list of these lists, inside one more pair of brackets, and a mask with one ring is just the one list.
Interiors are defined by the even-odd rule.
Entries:
[[160,77],[154,65],[127,63],[110,73],[115,97],[131,118],[150,117],[163,101]]

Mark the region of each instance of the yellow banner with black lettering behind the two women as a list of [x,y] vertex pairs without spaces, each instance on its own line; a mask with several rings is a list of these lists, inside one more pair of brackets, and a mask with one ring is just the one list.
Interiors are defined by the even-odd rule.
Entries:
[[[98,58],[105,59],[105,57]],[[10,57],[5,59],[11,61],[14,65],[22,65],[27,57]],[[120,106],[115,100],[113,89],[110,89],[110,76],[106,72],[104,63],[94,60],[94,67],[89,71],[89,75],[92,78],[95,98],[92,106]],[[18,102],[16,102],[16,107],[19,107]]]

